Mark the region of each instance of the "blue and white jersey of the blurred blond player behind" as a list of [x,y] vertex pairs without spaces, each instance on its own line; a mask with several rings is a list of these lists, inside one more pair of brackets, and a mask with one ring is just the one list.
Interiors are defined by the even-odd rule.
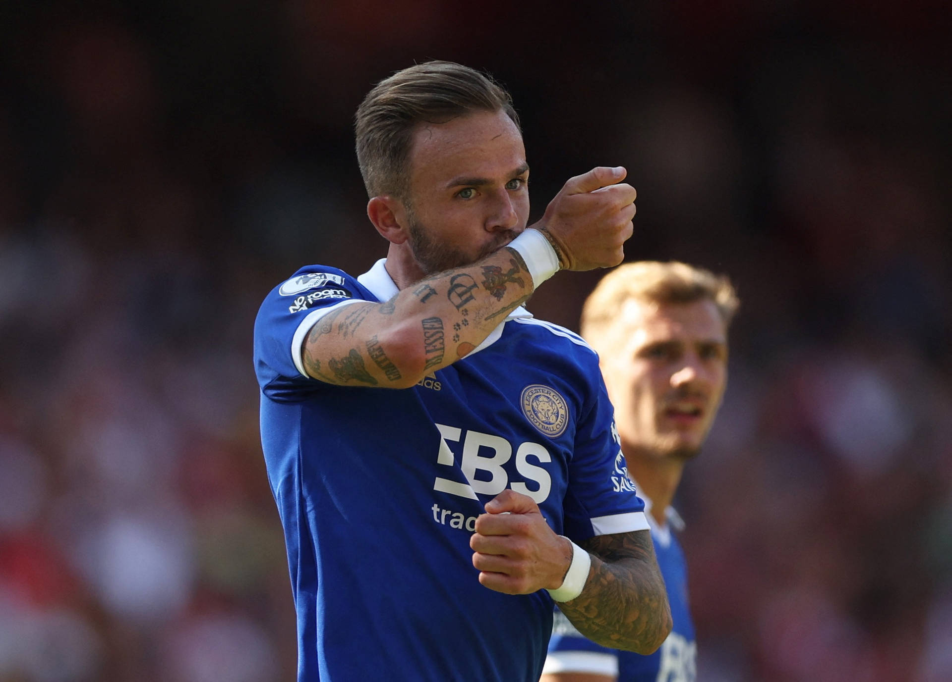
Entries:
[[[647,500],[645,500],[647,502]],[[648,509],[650,503],[648,502]],[[564,614],[556,612],[548,643],[545,672],[593,672],[617,675],[618,682],[694,682],[697,642],[687,602],[687,565],[671,526],[681,519],[668,509],[668,523],[659,528],[650,515],[651,539],[664,576],[673,627],[661,648],[650,655],[605,649],[577,631]]]

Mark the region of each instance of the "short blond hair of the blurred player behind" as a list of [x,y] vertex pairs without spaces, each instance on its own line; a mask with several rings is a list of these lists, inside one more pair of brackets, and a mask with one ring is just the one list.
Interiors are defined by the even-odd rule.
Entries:
[[585,300],[582,336],[591,341],[593,336],[604,335],[631,299],[654,303],[711,301],[721,314],[724,329],[740,305],[726,275],[677,261],[625,263],[605,275]]

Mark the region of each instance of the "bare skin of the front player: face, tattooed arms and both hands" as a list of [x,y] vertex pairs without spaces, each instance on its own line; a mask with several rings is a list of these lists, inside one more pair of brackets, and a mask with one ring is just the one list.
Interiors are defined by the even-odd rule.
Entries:
[[[599,166],[569,179],[532,225],[563,269],[622,262],[636,197],[624,178],[625,168]],[[302,349],[307,373],[339,385],[407,388],[486,339],[533,292],[526,263],[506,247],[526,229],[527,180],[522,135],[504,112],[419,125],[407,199],[378,196],[367,204],[390,243],[387,272],[400,292],[316,322]],[[558,588],[572,557],[536,503],[512,490],[486,503],[470,547],[480,582],[505,594]],[[647,532],[596,538],[590,551],[585,591],[565,602],[566,613],[610,646],[654,651],[671,626]]]

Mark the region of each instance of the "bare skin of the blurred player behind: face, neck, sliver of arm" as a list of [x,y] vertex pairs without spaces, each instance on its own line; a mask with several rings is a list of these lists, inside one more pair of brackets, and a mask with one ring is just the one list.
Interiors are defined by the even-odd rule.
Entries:
[[[601,358],[628,473],[664,525],[684,465],[700,451],[724,397],[726,325],[711,301],[629,300],[613,328],[588,341]],[[540,682],[616,679],[560,672]]]

